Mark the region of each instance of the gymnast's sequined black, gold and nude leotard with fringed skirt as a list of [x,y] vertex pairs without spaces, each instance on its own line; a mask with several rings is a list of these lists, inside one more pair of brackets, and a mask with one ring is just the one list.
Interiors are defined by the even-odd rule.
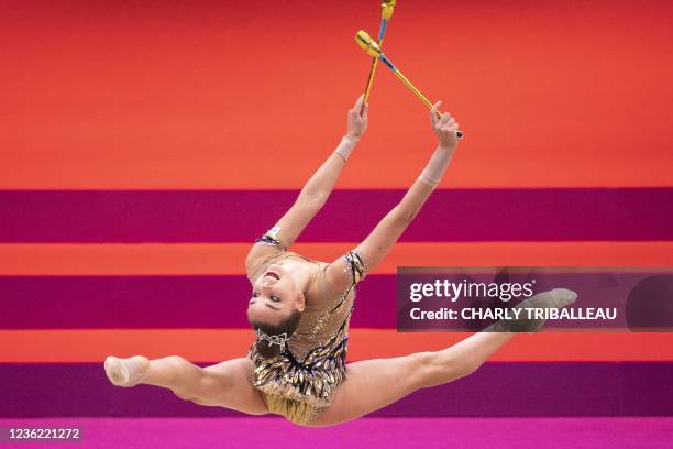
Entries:
[[280,353],[265,359],[257,352],[255,343],[247,353],[253,364],[250,382],[262,392],[268,410],[297,424],[309,424],[330,406],[336,387],[345,380],[349,324],[354,308],[355,284],[365,276],[364,262],[353,251],[342,256],[346,267],[344,276],[347,276],[350,285],[335,294],[327,285],[328,263],[287,251],[273,233],[267,232],[255,242],[272,245],[276,251],[254,269],[250,275],[253,283],[268,265],[286,258],[300,258],[320,265],[313,280],[320,304],[307,303],[299,327]]

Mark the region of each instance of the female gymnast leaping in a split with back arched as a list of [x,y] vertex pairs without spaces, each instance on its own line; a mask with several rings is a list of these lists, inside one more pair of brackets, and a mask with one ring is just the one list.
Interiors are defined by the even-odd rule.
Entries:
[[[336,149],[246,256],[252,285],[247,319],[256,336],[247,357],[207,368],[178,355],[156,360],[109,357],[104,370],[110,382],[125,387],[156,385],[199,405],[282,415],[300,426],[330,426],[367,415],[419,388],[463,377],[517,331],[541,328],[543,320],[500,320],[437,352],[345,363],[355,285],[382,262],[411,223],[442,179],[457,145],[459,124],[449,113],[439,118],[439,105],[430,112],[439,144],[420,176],[362,243],[327,263],[288,248],[326,204],[367,129],[368,105],[363,96],[349,110],[347,130]],[[554,288],[520,306],[561,308],[575,298],[572,291]]]

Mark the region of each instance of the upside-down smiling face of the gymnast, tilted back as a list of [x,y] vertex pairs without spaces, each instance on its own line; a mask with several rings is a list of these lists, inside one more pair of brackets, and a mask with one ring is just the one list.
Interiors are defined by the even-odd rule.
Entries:
[[247,305],[249,321],[278,325],[294,309],[304,311],[305,298],[291,273],[283,265],[272,264],[253,283]]

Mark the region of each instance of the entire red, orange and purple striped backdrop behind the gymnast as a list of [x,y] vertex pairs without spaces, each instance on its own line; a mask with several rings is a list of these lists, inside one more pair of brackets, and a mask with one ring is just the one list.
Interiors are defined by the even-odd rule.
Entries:
[[[0,2],[0,417],[238,416],[107,382],[108,354],[242,357],[243,260],[345,131],[376,1]],[[388,57],[466,138],[358,286],[350,360],[395,331],[398,265],[673,266],[673,4],[400,1]],[[293,248],[330,261],[432,154],[379,67],[369,129]],[[517,337],[380,416],[671,416],[673,335]],[[450,405],[448,405],[450,404]]]

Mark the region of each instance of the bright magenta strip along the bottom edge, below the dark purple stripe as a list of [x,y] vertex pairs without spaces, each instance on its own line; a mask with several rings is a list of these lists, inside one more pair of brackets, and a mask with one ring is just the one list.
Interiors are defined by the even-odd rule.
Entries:
[[[51,418],[0,426],[81,429],[73,448],[665,449],[673,418],[364,418],[307,429],[278,418]],[[235,443],[227,445],[229,441]],[[4,447],[4,446],[3,446]],[[22,442],[18,449],[51,445]],[[60,445],[56,446],[62,447]]]

